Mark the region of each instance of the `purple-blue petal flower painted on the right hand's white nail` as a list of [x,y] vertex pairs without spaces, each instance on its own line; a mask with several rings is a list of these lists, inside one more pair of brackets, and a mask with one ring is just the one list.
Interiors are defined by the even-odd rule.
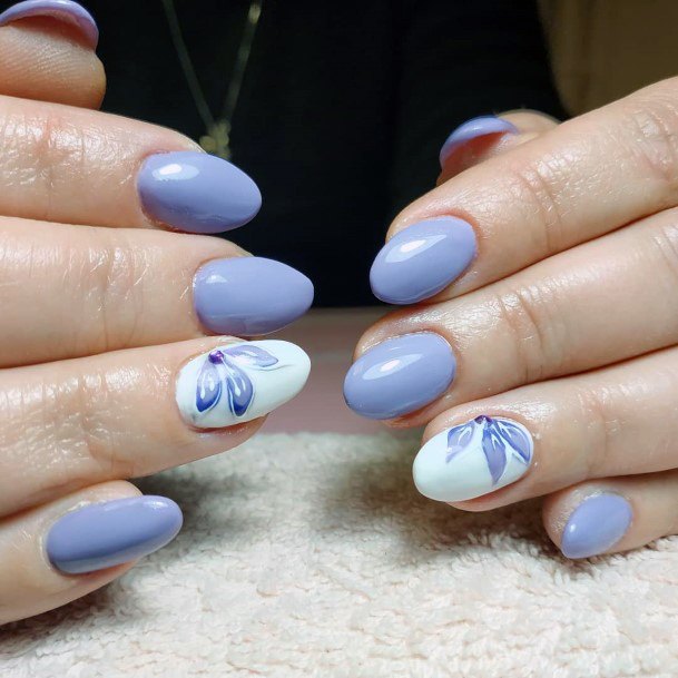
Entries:
[[479,429],[482,429],[482,440],[480,442],[492,476],[492,487],[500,482],[510,459],[524,466],[530,464],[532,443],[525,431],[507,419],[492,419],[484,415],[450,429],[446,463],[468,450],[475,450],[475,444],[471,446],[470,443],[475,438]]

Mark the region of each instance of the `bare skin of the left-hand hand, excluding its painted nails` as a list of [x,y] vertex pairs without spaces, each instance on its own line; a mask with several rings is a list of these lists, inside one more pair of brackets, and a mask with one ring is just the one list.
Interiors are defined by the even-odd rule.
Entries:
[[229,450],[263,423],[199,432],[179,415],[178,370],[229,341],[199,327],[193,275],[246,253],[145,216],[144,158],[196,146],[97,111],[104,90],[101,62],[69,26],[0,28],[0,623],[134,564],[61,574],[43,543],[59,517],[136,495],[125,479]]

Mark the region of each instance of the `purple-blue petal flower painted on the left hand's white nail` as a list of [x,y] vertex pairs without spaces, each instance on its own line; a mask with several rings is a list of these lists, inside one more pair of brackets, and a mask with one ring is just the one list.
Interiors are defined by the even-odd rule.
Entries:
[[239,345],[212,351],[198,375],[196,409],[208,412],[226,394],[228,410],[243,416],[254,400],[254,384],[243,367],[248,370],[276,369],[278,358],[253,345]]

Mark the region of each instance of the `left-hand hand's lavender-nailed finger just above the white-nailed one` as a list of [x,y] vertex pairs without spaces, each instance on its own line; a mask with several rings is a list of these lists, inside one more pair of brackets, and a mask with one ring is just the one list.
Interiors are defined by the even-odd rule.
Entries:
[[222,238],[0,217],[0,366],[267,334],[308,309],[306,276],[245,255]]

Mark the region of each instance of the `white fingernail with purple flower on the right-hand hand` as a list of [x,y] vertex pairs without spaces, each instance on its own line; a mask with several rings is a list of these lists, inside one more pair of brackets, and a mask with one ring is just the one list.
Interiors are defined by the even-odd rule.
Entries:
[[476,416],[434,435],[414,459],[416,489],[436,501],[465,501],[510,485],[528,471],[529,431],[503,417]]

